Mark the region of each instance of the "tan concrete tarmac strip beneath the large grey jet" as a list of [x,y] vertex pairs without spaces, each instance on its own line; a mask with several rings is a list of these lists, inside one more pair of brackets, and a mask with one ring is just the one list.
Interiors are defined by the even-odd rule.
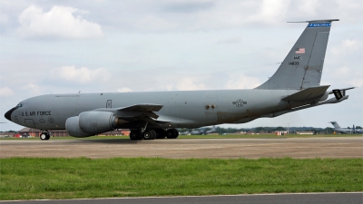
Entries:
[[0,158],[9,157],[362,158],[363,137],[0,140]]

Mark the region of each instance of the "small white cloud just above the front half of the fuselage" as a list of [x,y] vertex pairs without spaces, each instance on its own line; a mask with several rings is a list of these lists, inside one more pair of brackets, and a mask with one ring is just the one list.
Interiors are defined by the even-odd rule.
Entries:
[[111,73],[103,67],[90,70],[87,67],[77,69],[74,65],[63,66],[57,73],[61,79],[74,83],[92,83],[93,81],[107,82],[111,78]]

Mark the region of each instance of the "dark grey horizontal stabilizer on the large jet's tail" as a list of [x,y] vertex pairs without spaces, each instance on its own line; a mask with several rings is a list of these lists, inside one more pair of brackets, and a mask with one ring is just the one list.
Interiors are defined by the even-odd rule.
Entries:
[[292,95],[289,95],[285,98],[282,98],[284,101],[298,102],[309,100],[313,98],[317,98],[327,92],[327,89],[330,85],[326,86],[318,86],[318,87],[309,87],[308,89],[304,89],[300,92],[295,92]]

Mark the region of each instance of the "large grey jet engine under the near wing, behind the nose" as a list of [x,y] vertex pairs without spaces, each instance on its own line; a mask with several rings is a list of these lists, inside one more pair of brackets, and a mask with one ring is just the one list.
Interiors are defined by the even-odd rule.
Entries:
[[74,137],[89,137],[106,131],[113,131],[122,120],[113,112],[81,112],[65,121],[65,129]]

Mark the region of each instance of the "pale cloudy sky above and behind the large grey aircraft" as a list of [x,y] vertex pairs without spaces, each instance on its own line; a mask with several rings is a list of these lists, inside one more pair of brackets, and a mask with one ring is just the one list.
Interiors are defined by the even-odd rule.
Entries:
[[[253,89],[307,24],[333,22],[321,85],[349,99],[223,127],[363,126],[363,1],[0,1],[0,131],[4,114],[49,93]],[[330,97],[332,97],[330,95]]]

